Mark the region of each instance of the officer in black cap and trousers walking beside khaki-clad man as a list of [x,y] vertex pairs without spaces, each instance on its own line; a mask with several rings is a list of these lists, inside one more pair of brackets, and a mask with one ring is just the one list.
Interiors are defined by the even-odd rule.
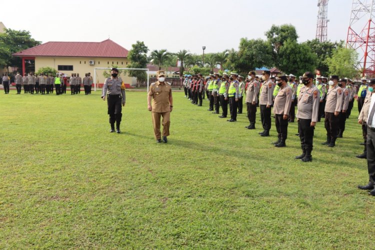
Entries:
[[122,84],[122,79],[117,77],[118,69],[113,67],[110,70],[111,77],[106,78],[103,89],[101,92],[101,98],[105,100],[107,97],[108,114],[109,114],[109,132],[114,132],[114,122],[116,122],[116,132],[120,133],[120,122],[121,122],[121,100],[122,106],[125,105],[125,84]]

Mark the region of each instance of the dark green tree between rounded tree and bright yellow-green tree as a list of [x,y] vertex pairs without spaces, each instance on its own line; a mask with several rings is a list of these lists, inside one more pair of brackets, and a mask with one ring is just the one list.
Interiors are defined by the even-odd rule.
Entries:
[[343,41],[324,41],[320,42],[319,39],[307,40],[303,42],[309,46],[317,56],[316,69],[320,70],[321,75],[328,75],[329,68],[325,62],[326,58],[332,56],[334,50],[343,47]]

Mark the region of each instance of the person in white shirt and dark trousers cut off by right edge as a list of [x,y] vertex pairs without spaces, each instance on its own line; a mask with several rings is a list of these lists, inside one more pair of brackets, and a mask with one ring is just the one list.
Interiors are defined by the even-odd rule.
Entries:
[[[370,79],[371,88],[374,92],[375,78]],[[367,169],[369,181],[366,185],[358,185],[359,189],[370,190],[368,194],[375,195],[374,181],[375,181],[375,94],[371,94],[369,111],[367,116]]]

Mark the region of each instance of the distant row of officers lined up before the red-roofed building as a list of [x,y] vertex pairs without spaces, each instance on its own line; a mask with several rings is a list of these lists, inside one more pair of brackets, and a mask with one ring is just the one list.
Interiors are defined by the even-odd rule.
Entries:
[[[55,89],[56,95],[66,93],[66,86],[69,83],[70,94],[79,94],[80,87],[83,85],[84,94],[91,93],[92,76],[90,73],[85,73],[84,77],[81,78],[79,73],[72,73],[71,76],[66,76],[62,73],[47,74],[47,73],[24,73],[23,76],[16,73],[14,76],[15,88],[17,94],[20,94],[23,87],[23,93],[40,93],[49,94],[53,93]],[[5,94],[9,93],[10,77],[7,73],[3,73],[1,77],[1,83],[4,87]]]

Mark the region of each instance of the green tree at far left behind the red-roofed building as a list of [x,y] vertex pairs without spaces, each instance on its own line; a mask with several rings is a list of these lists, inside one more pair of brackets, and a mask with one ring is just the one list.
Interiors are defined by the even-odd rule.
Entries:
[[21,68],[21,58],[12,54],[39,44],[40,41],[31,38],[29,31],[5,28],[5,32],[0,34],[0,63]]

